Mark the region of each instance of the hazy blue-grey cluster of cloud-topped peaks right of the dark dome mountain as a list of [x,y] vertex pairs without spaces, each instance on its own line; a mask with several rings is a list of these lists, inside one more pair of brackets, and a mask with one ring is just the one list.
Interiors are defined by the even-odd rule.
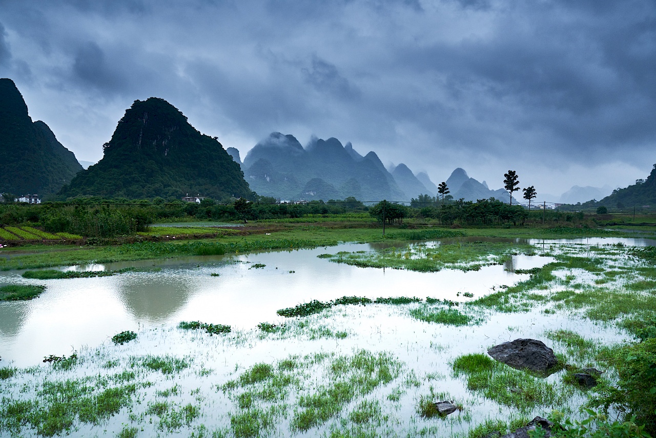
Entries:
[[304,148],[293,135],[272,133],[249,150],[242,168],[251,188],[263,196],[409,200],[374,152],[361,156],[335,138],[313,138]]

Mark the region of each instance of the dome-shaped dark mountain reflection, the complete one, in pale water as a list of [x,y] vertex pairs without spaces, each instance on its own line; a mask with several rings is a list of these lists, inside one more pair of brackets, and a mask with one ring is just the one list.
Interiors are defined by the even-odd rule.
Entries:
[[185,274],[129,276],[119,285],[119,297],[138,322],[166,322],[197,290],[196,281],[188,276],[191,273]]

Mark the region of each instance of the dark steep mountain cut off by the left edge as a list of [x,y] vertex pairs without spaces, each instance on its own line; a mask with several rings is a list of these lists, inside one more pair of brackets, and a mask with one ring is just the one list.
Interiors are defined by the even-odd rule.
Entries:
[[0,193],[48,196],[82,166],[43,121],[32,121],[16,84],[0,79]]

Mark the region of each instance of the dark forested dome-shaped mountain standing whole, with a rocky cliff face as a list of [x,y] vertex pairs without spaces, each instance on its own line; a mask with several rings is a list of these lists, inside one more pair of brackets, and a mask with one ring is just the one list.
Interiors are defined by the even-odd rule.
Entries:
[[251,196],[239,164],[221,144],[163,99],[135,100],[103,149],[102,160],[79,172],[60,197]]

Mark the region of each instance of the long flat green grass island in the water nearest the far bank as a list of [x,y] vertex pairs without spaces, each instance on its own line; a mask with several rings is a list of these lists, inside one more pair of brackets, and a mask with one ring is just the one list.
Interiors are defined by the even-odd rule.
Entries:
[[414,244],[406,248],[386,248],[371,252],[338,252],[330,257],[330,261],[358,267],[419,272],[436,272],[445,268],[478,271],[483,266],[499,265],[512,255],[534,253],[535,248],[531,245],[459,242],[439,246]]

